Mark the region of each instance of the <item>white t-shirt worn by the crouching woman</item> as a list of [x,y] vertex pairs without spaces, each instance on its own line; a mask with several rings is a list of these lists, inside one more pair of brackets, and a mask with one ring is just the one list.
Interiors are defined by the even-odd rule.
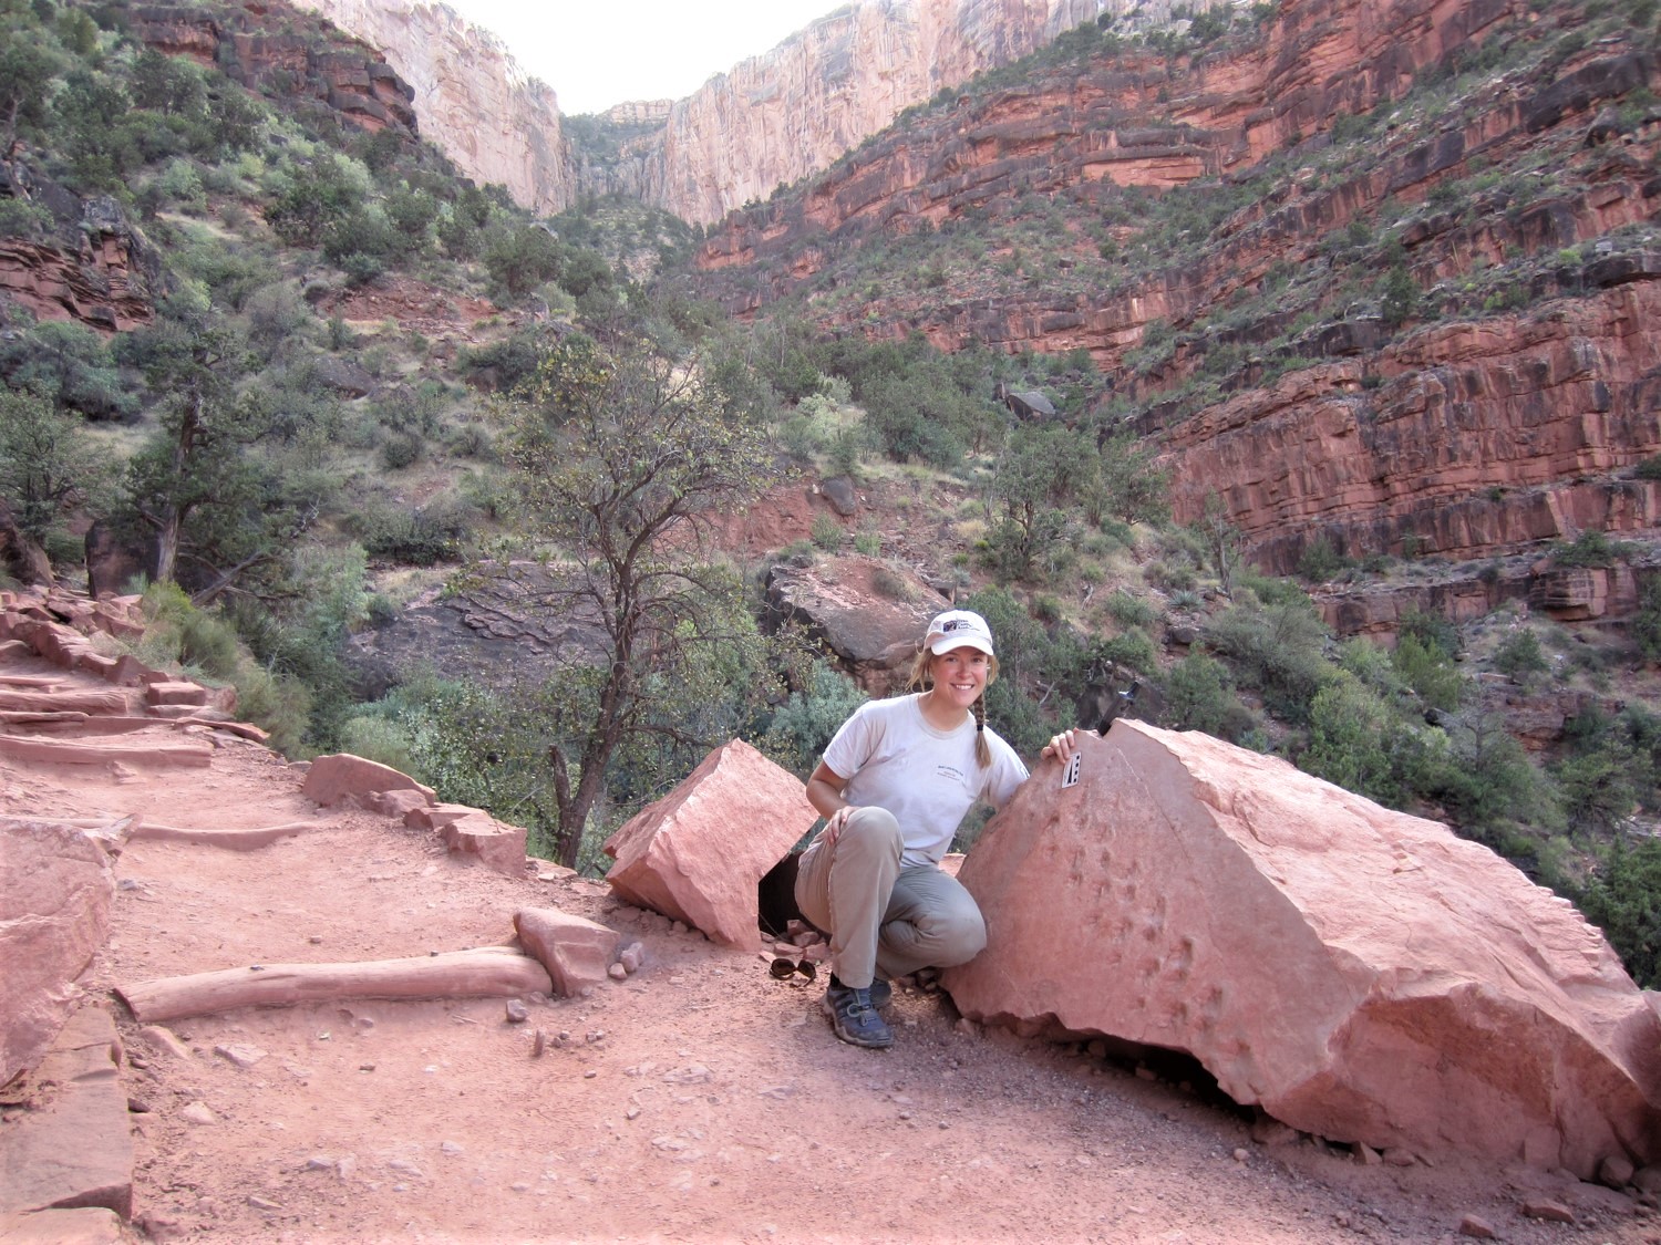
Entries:
[[842,798],[887,808],[900,823],[902,865],[938,863],[975,800],[1002,808],[1026,780],[1026,765],[992,727],[992,765],[982,765],[975,760],[975,719],[937,730],[920,699],[922,692],[867,701],[826,747],[826,765],[847,779]]

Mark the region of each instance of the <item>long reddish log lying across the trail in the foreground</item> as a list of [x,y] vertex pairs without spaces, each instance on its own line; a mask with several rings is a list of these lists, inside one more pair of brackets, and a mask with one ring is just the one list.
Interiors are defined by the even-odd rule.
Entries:
[[148,1024],[291,1003],[510,998],[533,989],[553,993],[553,979],[538,961],[510,946],[480,946],[407,959],[251,964],[116,986],[115,993]]

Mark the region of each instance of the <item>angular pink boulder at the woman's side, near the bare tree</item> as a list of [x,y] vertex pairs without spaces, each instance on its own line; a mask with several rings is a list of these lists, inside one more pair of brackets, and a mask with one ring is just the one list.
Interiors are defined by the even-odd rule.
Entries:
[[801,779],[733,740],[606,840],[606,881],[718,943],[752,946],[757,886],[814,818]]

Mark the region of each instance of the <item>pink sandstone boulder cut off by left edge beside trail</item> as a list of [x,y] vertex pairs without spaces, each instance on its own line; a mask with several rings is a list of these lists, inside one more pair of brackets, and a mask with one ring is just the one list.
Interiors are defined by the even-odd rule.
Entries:
[[0,818],[0,1086],[47,1051],[75,979],[110,935],[106,840],[61,822]]

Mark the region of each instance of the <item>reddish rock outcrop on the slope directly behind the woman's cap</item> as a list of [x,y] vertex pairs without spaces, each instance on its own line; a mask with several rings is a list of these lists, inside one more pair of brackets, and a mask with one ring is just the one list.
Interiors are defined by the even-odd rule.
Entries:
[[767,616],[802,624],[860,687],[887,696],[910,672],[928,619],[948,603],[915,576],[902,584],[907,599],[879,593],[872,584],[877,573],[897,574],[864,556],[829,558],[811,568],[774,566],[767,571]]

